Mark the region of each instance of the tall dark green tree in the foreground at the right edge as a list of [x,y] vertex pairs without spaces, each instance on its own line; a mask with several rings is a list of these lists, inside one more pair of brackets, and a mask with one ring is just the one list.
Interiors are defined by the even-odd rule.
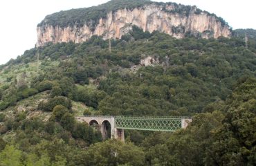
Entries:
[[239,84],[227,101],[226,116],[214,130],[209,163],[218,165],[256,164],[256,79]]

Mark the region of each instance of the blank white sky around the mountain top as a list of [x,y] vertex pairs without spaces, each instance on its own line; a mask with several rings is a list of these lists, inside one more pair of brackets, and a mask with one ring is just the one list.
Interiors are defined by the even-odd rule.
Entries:
[[[71,8],[97,6],[109,0],[1,0],[0,1],[0,64],[15,59],[37,42],[37,24],[46,15]],[[214,12],[233,28],[256,29],[254,0],[154,0],[195,5]]]

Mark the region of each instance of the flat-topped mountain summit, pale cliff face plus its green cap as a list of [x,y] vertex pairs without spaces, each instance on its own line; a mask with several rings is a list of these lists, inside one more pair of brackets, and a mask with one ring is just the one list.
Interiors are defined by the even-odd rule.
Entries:
[[47,42],[81,43],[93,35],[120,39],[132,26],[152,33],[158,30],[176,38],[230,37],[230,26],[221,17],[196,6],[154,1],[112,0],[100,6],[48,15],[37,26],[37,46]]

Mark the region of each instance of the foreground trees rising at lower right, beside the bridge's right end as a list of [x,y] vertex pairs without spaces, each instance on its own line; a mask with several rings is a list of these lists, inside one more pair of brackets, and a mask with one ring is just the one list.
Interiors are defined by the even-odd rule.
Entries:
[[187,129],[146,138],[148,165],[255,165],[255,83],[240,82],[226,102],[194,116]]

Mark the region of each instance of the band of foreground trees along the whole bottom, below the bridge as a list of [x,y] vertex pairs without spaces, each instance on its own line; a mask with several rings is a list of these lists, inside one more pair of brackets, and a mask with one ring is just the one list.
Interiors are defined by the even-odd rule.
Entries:
[[[208,113],[196,114],[187,129],[151,133],[139,147],[128,140],[125,144],[107,140],[84,149],[86,145],[81,141],[90,141],[91,136],[86,124],[77,123],[72,133],[67,133],[57,122],[23,120],[15,146],[0,139],[0,163],[28,165],[33,160],[43,165],[255,165],[255,91],[255,78],[241,80],[226,102],[212,103],[214,107],[208,107]],[[66,110],[57,106],[54,111],[61,109]],[[74,142],[77,138],[82,140]]]

